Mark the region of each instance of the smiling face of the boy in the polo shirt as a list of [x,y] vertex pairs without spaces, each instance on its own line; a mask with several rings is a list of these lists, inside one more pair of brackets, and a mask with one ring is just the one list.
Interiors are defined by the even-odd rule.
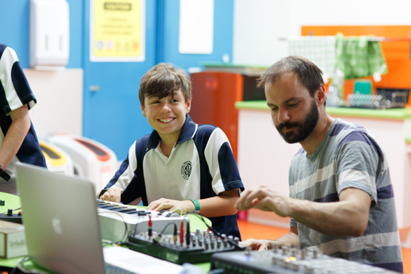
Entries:
[[190,106],[191,100],[186,101],[182,90],[178,89],[174,90],[173,95],[162,99],[155,96],[145,97],[141,110],[162,140],[177,142]]

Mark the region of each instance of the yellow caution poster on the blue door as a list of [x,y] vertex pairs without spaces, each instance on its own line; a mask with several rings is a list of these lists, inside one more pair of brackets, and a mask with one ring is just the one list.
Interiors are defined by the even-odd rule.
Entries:
[[90,61],[144,60],[145,0],[90,0]]

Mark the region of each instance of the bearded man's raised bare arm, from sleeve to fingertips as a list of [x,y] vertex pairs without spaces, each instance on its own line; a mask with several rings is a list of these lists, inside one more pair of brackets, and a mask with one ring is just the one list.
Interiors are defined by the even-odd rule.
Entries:
[[318,203],[286,197],[260,186],[242,192],[236,203],[238,210],[258,208],[271,211],[278,216],[289,216],[322,234],[354,237],[364,234],[370,206],[371,196],[358,188],[341,190],[339,201]]

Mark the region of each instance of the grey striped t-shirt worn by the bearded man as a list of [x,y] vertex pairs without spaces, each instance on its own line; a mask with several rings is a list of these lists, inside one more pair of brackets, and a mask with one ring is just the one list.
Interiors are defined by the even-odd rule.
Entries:
[[345,188],[371,195],[369,224],[360,237],[328,236],[290,219],[301,248],[393,271],[403,271],[393,186],[386,156],[364,127],[336,119],[311,155],[302,148],[292,159],[290,197],[317,202],[338,201]]

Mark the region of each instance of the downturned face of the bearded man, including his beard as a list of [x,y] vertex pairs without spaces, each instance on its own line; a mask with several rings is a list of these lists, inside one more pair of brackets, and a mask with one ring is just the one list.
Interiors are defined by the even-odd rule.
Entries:
[[319,110],[299,76],[282,75],[274,83],[266,84],[265,94],[274,125],[284,140],[288,143],[305,140],[319,121]]

